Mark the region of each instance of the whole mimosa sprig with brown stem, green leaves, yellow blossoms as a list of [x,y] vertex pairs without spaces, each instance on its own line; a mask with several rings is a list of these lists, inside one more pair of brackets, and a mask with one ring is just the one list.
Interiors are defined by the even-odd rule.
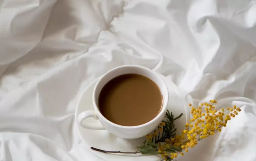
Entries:
[[[221,132],[221,129],[227,126],[227,122],[236,117],[241,111],[236,105],[232,108],[227,107],[218,111],[216,110],[216,104],[216,100],[210,100],[209,103],[201,103],[198,107],[189,104],[193,118],[185,124],[185,130],[180,135],[175,133],[174,121],[181,117],[182,114],[174,118],[174,115],[167,110],[165,114],[166,120],[162,121],[153,134],[146,136],[146,140],[138,147],[137,151],[106,151],[94,147],[91,147],[91,149],[103,153],[161,155],[165,161],[175,160],[178,155],[184,155],[184,151],[188,152],[189,148],[197,145],[198,141],[214,133]],[[205,110],[205,112],[202,112],[202,110]]]

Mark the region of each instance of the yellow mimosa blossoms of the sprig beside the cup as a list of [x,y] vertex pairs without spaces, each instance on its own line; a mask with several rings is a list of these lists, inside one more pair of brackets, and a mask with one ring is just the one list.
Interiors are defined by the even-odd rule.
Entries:
[[[215,107],[216,103],[216,100],[210,100],[210,103],[201,103],[198,107],[189,104],[193,118],[186,123],[185,130],[182,131],[181,135],[176,135],[174,138],[171,138],[171,140],[166,140],[166,144],[181,147],[185,152],[188,152],[188,148],[193,148],[198,144],[198,141],[207,138],[218,131],[220,132],[221,128],[226,127],[227,122],[241,111],[236,105],[234,105],[233,108],[228,107],[227,109],[217,111]],[[203,110],[205,112],[203,112]],[[161,126],[164,125],[161,124]],[[158,152],[159,154],[162,154],[162,146],[159,146]],[[184,153],[179,154],[184,155]],[[166,156],[174,159],[178,154],[162,154],[162,157],[165,157],[165,160],[168,160],[168,157]]]

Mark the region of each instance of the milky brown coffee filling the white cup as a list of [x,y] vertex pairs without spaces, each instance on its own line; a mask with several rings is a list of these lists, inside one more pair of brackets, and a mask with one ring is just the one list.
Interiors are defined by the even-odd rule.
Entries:
[[122,126],[137,126],[154,119],[161,111],[162,102],[156,83],[137,74],[111,79],[98,99],[103,116]]

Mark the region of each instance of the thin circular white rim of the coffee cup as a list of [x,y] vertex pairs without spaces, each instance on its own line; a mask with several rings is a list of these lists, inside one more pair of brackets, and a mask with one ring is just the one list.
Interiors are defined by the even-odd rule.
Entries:
[[[120,69],[120,68],[125,68],[125,67],[136,67],[136,68],[140,68],[140,69],[143,69],[143,70],[146,70],[146,71],[149,71],[149,72],[153,73],[156,77],[158,77],[159,80],[161,80],[162,85],[163,85],[164,88],[167,90],[167,96],[165,96],[165,99],[167,99],[167,100],[166,100],[166,105],[165,105],[165,106],[164,106],[164,105],[162,106],[162,109],[161,109],[161,111],[158,113],[158,115],[157,115],[154,119],[152,119],[152,120],[150,120],[150,121],[148,121],[148,122],[146,122],[146,123],[144,123],[144,124],[137,125],[137,126],[123,126],[123,125],[119,125],[119,124],[116,124],[116,123],[111,122],[111,121],[108,120],[106,117],[104,117],[103,114],[101,114],[101,112],[100,112],[100,110],[98,109],[98,106],[97,106],[97,104],[96,104],[96,100],[95,100],[95,90],[96,90],[98,84],[100,83],[100,81],[101,81],[108,73],[111,73],[111,72],[113,72],[113,71],[115,71],[115,70],[118,70],[118,69]],[[161,90],[161,89],[160,89],[160,90]],[[161,90],[161,92],[162,92],[162,90]],[[160,76],[158,73],[156,73],[155,71],[153,71],[152,69],[149,69],[149,68],[146,68],[146,67],[140,66],[140,65],[122,65],[122,66],[117,66],[116,68],[113,68],[113,69],[107,71],[104,75],[102,75],[102,76],[100,77],[100,79],[97,81],[97,83],[96,83],[96,85],[94,86],[94,89],[93,89],[93,106],[94,106],[94,110],[96,111],[98,117],[101,116],[101,117],[104,119],[104,121],[106,121],[108,124],[111,124],[112,126],[115,126],[115,127],[118,127],[118,128],[124,128],[124,129],[137,129],[137,128],[140,128],[140,127],[147,126],[147,125],[153,123],[154,121],[158,120],[158,118],[161,117],[162,114],[165,112],[165,109],[166,109],[166,107],[167,107],[167,105],[168,105],[168,101],[169,101],[169,92],[168,92],[168,88],[167,88],[166,83],[165,83],[165,82],[163,81],[163,79],[161,78],[161,76]]]

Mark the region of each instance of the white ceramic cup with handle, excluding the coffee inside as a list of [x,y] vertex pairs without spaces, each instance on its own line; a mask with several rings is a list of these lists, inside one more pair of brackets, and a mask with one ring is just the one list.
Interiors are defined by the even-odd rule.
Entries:
[[[138,126],[121,126],[118,124],[115,124],[109,120],[107,120],[101,113],[98,107],[98,96],[100,95],[101,89],[104,85],[111,79],[128,73],[134,73],[146,76],[147,78],[154,81],[159,89],[161,90],[162,97],[163,97],[163,105],[162,109],[159,112],[159,114],[149,122],[138,125]],[[80,126],[86,128],[86,129],[93,129],[93,130],[103,130],[106,129],[110,133],[116,135],[120,138],[140,138],[145,136],[146,134],[149,134],[152,132],[162,121],[163,117],[166,113],[166,106],[168,104],[168,89],[165,84],[165,82],[162,80],[161,76],[156,73],[155,71],[152,71],[151,69],[145,68],[143,66],[138,65],[124,65],[119,66],[114,69],[111,69],[110,71],[106,72],[96,83],[94,90],[93,90],[93,110],[87,110],[82,113],[80,113],[77,117],[77,121],[80,124]],[[145,111],[145,114],[150,111]],[[100,123],[98,124],[90,124],[86,123],[86,118],[93,117],[94,119],[98,119]]]

